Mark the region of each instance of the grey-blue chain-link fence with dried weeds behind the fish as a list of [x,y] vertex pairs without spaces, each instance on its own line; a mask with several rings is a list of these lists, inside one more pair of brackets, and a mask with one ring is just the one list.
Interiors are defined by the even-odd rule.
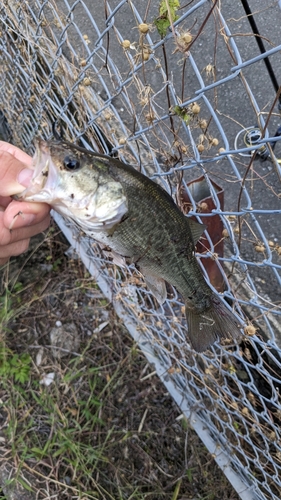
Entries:
[[[118,155],[209,221],[198,259],[245,336],[198,355],[176,290],[159,306],[134,266],[56,217],[241,498],[277,500],[280,116],[263,59],[280,73],[281,46],[264,37],[258,55],[241,5],[235,18],[230,1],[182,4],[2,1],[1,138],[32,152],[60,119],[67,139]],[[278,32],[277,2],[267,9]],[[271,159],[252,161],[255,150]]]

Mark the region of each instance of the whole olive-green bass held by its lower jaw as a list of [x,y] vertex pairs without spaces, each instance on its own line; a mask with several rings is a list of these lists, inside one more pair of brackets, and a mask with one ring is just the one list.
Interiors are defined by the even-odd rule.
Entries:
[[184,215],[162,186],[129,164],[65,140],[37,140],[33,168],[30,185],[15,198],[48,203],[111,249],[117,262],[135,264],[160,304],[166,282],[173,285],[195,351],[240,338],[240,322],[210,288],[195,255],[205,226]]

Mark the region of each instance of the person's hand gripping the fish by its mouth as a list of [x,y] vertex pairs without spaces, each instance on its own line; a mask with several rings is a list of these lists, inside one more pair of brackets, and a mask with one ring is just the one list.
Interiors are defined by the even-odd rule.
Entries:
[[50,207],[46,203],[12,200],[29,185],[32,159],[19,148],[0,141],[0,266],[25,252],[29,240],[47,229]]

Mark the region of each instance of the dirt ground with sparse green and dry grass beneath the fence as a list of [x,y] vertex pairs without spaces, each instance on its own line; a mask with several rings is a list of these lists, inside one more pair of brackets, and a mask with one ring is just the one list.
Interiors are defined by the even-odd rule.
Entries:
[[2,273],[4,500],[238,500],[56,226]]

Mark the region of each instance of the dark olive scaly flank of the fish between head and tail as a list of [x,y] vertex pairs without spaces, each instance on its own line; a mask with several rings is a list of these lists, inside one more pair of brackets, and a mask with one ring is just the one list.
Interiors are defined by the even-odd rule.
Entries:
[[[194,255],[188,219],[166,191],[147,177],[136,176],[134,169],[122,167],[110,166],[109,174],[122,183],[128,213],[108,238],[108,246],[161,276],[203,310],[209,306],[209,287]],[[141,210],[135,201],[139,195]]]

